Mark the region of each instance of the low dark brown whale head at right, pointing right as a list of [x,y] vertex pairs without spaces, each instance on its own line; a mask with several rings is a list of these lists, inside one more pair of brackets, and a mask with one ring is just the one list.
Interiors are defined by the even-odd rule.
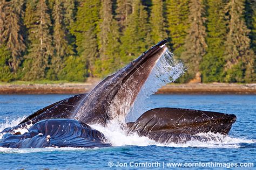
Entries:
[[127,123],[130,132],[137,132],[160,143],[181,143],[202,139],[197,133],[227,134],[235,115],[212,111],[179,108],[156,108],[146,111],[136,122]]

